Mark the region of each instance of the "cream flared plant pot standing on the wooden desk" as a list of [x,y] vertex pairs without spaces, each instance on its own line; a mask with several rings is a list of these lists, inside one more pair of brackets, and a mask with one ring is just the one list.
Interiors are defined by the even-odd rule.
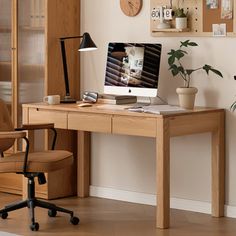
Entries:
[[185,109],[193,109],[195,96],[198,89],[190,88],[177,88],[176,93],[179,95],[179,106]]

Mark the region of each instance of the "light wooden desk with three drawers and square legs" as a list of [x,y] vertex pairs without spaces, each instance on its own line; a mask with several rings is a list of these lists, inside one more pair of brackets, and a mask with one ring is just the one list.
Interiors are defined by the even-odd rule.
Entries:
[[224,215],[224,110],[197,108],[175,114],[129,112],[101,104],[79,108],[75,104],[23,105],[24,123],[53,122],[55,127],[78,131],[78,196],[89,195],[90,132],[126,134],[156,139],[156,226],[168,228],[170,218],[170,138],[211,132],[212,216]]

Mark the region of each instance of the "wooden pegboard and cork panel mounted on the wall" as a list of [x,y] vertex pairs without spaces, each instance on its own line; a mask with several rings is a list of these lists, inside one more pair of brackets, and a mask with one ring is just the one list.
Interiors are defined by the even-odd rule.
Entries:
[[[209,9],[206,0],[172,0],[172,9],[178,6],[188,12],[188,29],[177,30],[175,28],[175,19],[168,20],[170,29],[158,29],[159,19],[152,18],[151,12],[161,6],[171,8],[170,0],[150,0],[150,31],[153,37],[159,36],[213,36],[212,24],[226,24],[226,36],[236,36],[236,4],[233,4],[233,17],[230,19],[221,19],[221,0],[215,9]],[[180,5],[179,5],[180,3]],[[222,37],[222,35],[221,35]]]

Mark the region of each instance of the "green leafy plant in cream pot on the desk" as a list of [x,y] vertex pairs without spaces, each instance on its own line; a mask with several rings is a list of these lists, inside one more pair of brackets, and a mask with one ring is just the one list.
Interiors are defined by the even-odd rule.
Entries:
[[177,88],[176,92],[179,95],[179,103],[180,106],[186,109],[193,109],[194,107],[194,101],[195,101],[195,95],[197,93],[197,88],[191,87],[191,75],[195,71],[204,70],[207,75],[209,72],[213,72],[217,74],[220,77],[223,77],[220,71],[214,69],[212,66],[205,64],[202,67],[198,67],[196,69],[189,69],[185,68],[184,65],[181,62],[181,59],[184,58],[185,55],[187,55],[187,51],[183,50],[183,48],[188,47],[196,47],[198,46],[197,43],[191,42],[190,40],[186,40],[184,42],[180,41],[180,47],[177,50],[171,49],[170,52],[168,52],[168,64],[170,66],[169,70],[171,71],[173,76],[180,75],[180,77],[184,81],[184,86],[181,88]]

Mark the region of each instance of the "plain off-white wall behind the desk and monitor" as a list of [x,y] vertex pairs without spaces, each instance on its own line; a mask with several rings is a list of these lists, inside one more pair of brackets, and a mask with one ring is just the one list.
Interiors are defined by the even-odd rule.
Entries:
[[[199,44],[188,63],[215,66],[224,79],[196,73],[193,85],[199,89],[197,105],[227,109],[226,116],[226,204],[236,206],[236,113],[228,111],[236,94],[236,38],[151,37],[150,1],[144,0],[136,17],[125,16],[119,0],[81,0],[81,32],[88,31],[98,50],[81,53],[82,90],[102,92],[107,43],[109,41],[160,42],[163,44],[159,95],[176,104],[175,89],[181,80],[168,71],[167,51],[180,40]],[[181,36],[181,34],[180,34]],[[210,135],[201,134],[171,140],[171,196],[210,201]],[[155,193],[154,139],[93,134],[92,185],[114,189]]]

